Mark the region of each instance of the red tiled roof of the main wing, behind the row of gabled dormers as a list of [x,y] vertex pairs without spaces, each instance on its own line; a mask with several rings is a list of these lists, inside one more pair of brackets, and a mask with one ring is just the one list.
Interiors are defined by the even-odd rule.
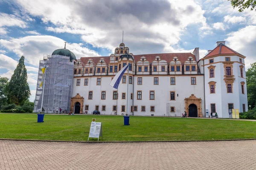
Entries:
[[[192,53],[141,54],[141,55],[134,55],[134,61],[135,62],[140,61],[140,57],[143,57],[143,56],[146,58],[146,61],[148,61],[148,62],[155,61],[155,57],[157,57],[157,56],[159,56],[161,58],[161,60],[166,60],[166,62],[173,61],[174,57],[177,57],[178,61],[180,61],[182,63],[185,62],[188,59],[188,57],[193,57],[193,59],[196,61],[195,55]],[[89,59],[92,59],[93,62],[95,62],[97,64],[101,58],[104,58],[105,62],[107,62],[107,63],[110,62],[110,56],[108,56],[108,57],[81,57],[80,59],[84,64],[86,64]]]

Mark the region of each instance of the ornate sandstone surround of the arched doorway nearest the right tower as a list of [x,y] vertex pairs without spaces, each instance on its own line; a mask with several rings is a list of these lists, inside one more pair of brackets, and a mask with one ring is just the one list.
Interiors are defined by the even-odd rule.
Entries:
[[185,98],[185,111],[189,115],[189,105],[195,104],[198,110],[198,117],[203,117],[202,107],[201,107],[201,98],[197,98],[194,94],[191,94],[189,98]]

